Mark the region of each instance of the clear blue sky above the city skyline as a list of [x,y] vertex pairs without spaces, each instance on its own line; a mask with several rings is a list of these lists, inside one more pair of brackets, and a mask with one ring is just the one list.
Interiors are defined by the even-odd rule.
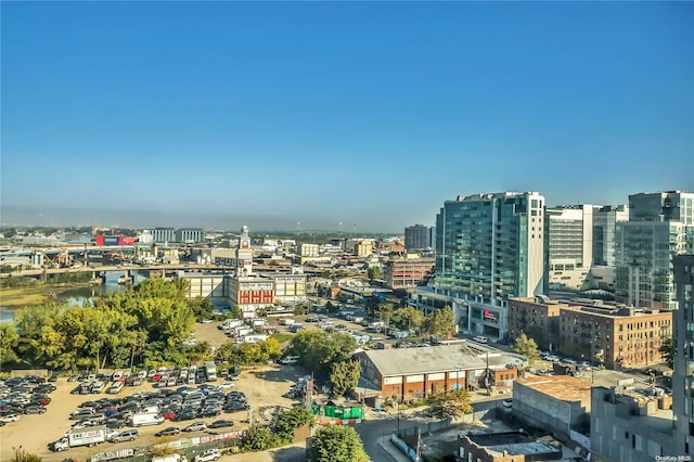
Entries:
[[694,190],[689,2],[2,2],[3,224],[402,232]]

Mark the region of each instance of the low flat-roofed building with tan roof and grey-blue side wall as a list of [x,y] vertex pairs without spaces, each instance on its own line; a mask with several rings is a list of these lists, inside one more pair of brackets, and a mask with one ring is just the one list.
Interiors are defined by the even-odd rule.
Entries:
[[591,383],[570,375],[518,378],[513,383],[513,413],[528,423],[569,434],[588,425]]

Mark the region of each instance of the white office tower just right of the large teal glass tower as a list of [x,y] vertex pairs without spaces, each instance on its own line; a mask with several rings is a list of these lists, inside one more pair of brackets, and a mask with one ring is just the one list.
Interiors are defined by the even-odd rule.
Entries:
[[550,288],[580,288],[593,260],[592,205],[548,208],[545,211]]

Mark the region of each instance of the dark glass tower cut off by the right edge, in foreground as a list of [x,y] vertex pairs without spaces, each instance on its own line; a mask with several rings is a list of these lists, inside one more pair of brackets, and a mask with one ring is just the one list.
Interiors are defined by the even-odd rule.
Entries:
[[678,447],[672,453],[694,453],[694,255],[673,258],[676,299],[673,313],[674,368],[672,373],[672,412]]

